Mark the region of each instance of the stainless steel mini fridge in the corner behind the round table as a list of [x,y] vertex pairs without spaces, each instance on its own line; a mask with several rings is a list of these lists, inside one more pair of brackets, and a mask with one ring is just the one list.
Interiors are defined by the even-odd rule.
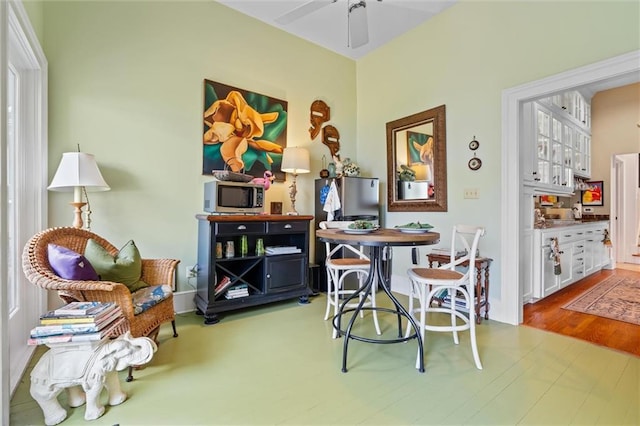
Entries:
[[[380,223],[380,180],[378,178],[364,177],[341,177],[316,179],[315,181],[315,228],[318,224],[327,220],[327,212],[323,210],[321,194],[328,189],[331,182],[335,181],[340,198],[340,210],[336,211],[334,220],[369,220],[376,224]],[[320,266],[318,282],[314,287],[320,291],[327,289],[327,276],[324,268],[326,252],[324,243],[315,240],[315,263]],[[385,276],[391,274],[391,251],[385,254],[384,263]],[[353,278],[353,277],[350,277]],[[347,288],[355,285],[356,280],[347,280]]]

